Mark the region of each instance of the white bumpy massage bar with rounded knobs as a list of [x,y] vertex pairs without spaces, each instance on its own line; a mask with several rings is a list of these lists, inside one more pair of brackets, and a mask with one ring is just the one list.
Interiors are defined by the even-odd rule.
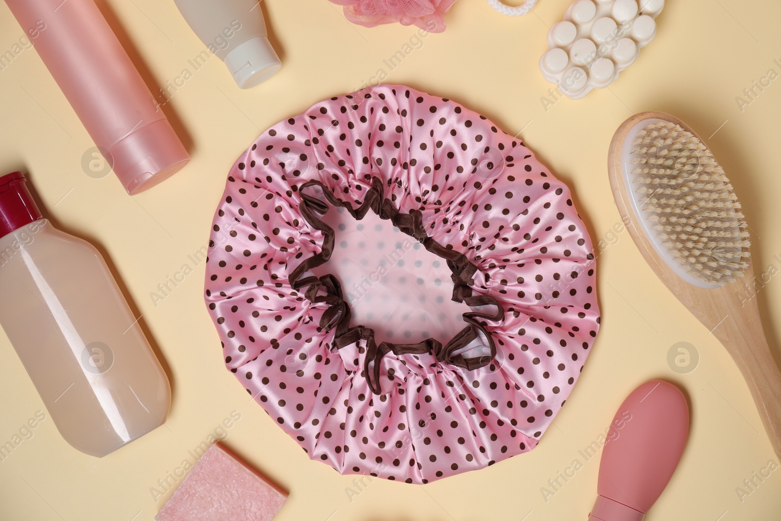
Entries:
[[548,50],[540,58],[543,76],[572,99],[607,87],[654,39],[654,19],[664,6],[665,0],[572,2],[564,20],[547,34]]

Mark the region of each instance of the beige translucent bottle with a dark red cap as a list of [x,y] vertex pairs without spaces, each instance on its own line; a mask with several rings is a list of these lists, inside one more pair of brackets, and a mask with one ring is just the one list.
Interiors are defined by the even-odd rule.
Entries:
[[20,172],[0,177],[0,294],[0,325],[74,448],[102,457],[165,422],[168,378],[109,267],[41,216]]

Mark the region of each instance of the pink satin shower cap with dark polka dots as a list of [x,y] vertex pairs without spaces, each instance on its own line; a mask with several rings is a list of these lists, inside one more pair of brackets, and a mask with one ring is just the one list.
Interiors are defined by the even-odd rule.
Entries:
[[[394,237],[360,285],[333,275],[353,262],[342,277],[358,277]],[[408,87],[266,130],[231,168],[210,238],[205,300],[227,368],[340,473],[423,484],[530,450],[599,328],[565,184],[484,116]],[[449,302],[430,296],[444,286]],[[433,321],[408,315],[420,301]],[[465,309],[460,324],[447,305]]]

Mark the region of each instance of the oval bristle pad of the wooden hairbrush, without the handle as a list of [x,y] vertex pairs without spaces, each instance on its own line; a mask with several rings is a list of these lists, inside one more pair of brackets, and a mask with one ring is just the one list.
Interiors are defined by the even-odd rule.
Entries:
[[640,227],[679,277],[708,288],[743,277],[750,241],[740,202],[697,136],[642,120],[626,134],[622,170]]

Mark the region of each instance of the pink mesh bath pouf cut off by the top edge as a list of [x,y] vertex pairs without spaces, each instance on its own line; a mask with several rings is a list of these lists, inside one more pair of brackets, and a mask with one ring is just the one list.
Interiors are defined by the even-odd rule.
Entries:
[[398,22],[430,33],[445,29],[444,15],[455,0],[330,0],[344,5],[344,16],[363,27]]

